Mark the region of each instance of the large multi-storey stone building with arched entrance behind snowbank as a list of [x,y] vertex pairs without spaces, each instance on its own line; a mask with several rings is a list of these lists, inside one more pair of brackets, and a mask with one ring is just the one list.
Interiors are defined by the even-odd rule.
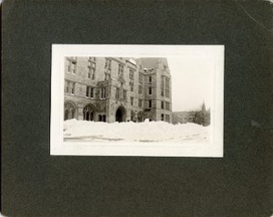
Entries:
[[64,119],[171,122],[166,58],[66,57]]

